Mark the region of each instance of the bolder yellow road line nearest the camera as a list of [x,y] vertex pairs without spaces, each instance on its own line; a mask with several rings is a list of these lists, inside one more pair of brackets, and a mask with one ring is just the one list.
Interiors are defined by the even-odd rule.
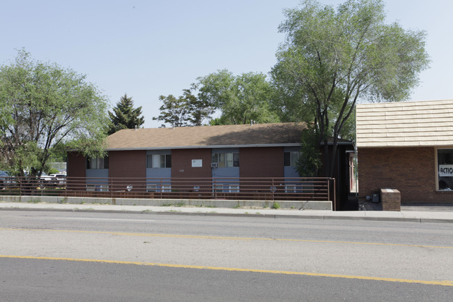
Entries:
[[452,280],[410,280],[399,278],[381,278],[369,277],[363,275],[336,275],[331,273],[308,273],[302,271],[272,271],[266,269],[238,269],[233,267],[218,267],[218,266],[197,266],[197,265],[184,265],[184,264],[166,264],[166,263],[152,263],[152,262],[131,262],[131,261],[114,261],[114,260],[100,260],[100,259],[75,259],[75,258],[57,258],[57,257],[32,257],[32,256],[13,256],[13,255],[0,255],[0,258],[11,259],[37,259],[37,260],[58,260],[58,261],[71,261],[71,262],[97,262],[108,264],[130,264],[141,266],[162,266],[180,269],[208,269],[213,271],[240,271],[249,273],[275,273],[281,275],[307,275],[311,277],[328,277],[328,278],[344,278],[344,279],[358,279],[358,280],[373,280],[385,282],[401,282],[401,283],[418,283],[424,285],[442,285],[453,287]]

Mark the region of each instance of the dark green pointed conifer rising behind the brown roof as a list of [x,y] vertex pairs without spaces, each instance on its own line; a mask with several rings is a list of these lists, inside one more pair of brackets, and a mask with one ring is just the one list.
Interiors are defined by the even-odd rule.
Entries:
[[144,116],[141,116],[141,106],[134,108],[134,101],[132,97],[128,98],[128,94],[124,93],[114,112],[109,112],[109,119],[112,122],[108,134],[111,135],[121,129],[134,129],[139,128],[144,124]]

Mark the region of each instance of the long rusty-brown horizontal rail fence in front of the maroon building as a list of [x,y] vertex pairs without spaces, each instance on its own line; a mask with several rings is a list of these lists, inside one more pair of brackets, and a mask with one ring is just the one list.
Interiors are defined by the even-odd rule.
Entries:
[[334,188],[323,177],[0,179],[0,195],[21,196],[332,201]]

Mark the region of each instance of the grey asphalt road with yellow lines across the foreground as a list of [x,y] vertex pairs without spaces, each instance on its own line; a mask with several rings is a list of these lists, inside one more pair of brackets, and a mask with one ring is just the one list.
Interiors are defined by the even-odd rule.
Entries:
[[441,223],[0,211],[0,301],[451,301]]

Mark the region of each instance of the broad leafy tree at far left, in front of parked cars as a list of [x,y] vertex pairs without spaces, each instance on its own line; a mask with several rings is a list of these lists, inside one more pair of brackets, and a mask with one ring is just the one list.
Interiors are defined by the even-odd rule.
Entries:
[[107,121],[107,100],[84,75],[24,50],[0,67],[0,153],[15,174],[40,174],[63,145],[102,154]]

